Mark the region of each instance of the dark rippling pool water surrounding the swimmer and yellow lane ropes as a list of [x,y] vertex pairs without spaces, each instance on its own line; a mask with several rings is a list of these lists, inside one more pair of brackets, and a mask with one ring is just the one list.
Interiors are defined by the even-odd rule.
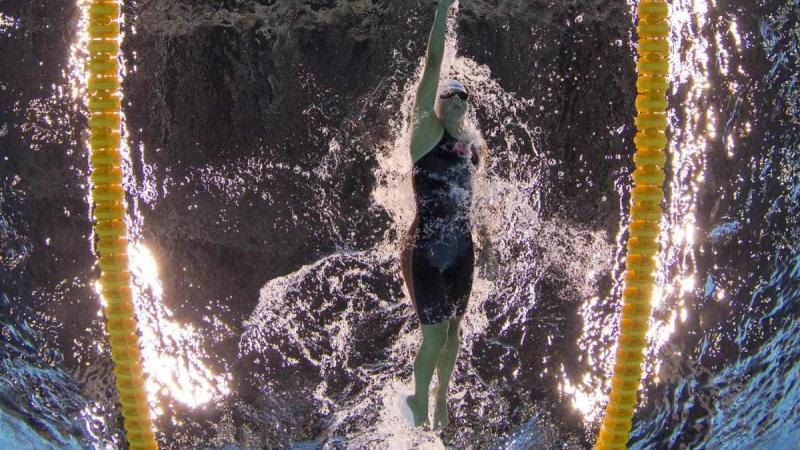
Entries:
[[[800,5],[681,0],[632,448],[800,448]],[[0,0],[0,447],[119,448],[88,212],[80,2]],[[126,2],[133,270],[162,448],[580,449],[613,364],[632,8],[462,1],[492,153],[452,426],[396,411],[410,93],[434,4]]]

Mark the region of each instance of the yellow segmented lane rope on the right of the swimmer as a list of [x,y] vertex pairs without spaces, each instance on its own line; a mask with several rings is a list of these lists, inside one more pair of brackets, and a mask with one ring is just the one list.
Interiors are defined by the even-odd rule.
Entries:
[[666,92],[669,86],[669,5],[666,0],[639,1],[639,77],[636,88],[637,134],[633,157],[635,187],[631,192],[628,238],[617,359],[611,379],[606,416],[595,449],[627,448],[642,377],[658,253],[661,201],[664,198],[664,163],[667,145]]

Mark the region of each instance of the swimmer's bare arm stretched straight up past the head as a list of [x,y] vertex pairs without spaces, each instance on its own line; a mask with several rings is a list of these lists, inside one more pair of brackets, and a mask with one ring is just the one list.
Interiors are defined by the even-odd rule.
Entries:
[[[431,140],[438,140],[442,134],[442,124],[434,112],[436,91],[439,88],[439,75],[444,59],[445,31],[447,28],[447,9],[455,0],[440,0],[433,19],[433,27],[428,37],[428,49],[425,54],[425,69],[417,88],[414,102],[411,132],[412,157],[428,151],[425,148]],[[434,142],[435,144],[435,142]],[[414,158],[416,160],[416,158]]]

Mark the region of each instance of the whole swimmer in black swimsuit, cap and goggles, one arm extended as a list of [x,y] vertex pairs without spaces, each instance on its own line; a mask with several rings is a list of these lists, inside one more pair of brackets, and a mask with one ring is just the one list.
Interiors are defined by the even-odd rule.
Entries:
[[414,360],[414,424],[428,422],[428,389],[437,372],[434,429],[449,422],[447,388],[458,354],[461,320],[472,289],[474,250],[469,218],[473,166],[485,166],[486,143],[467,119],[468,93],[456,80],[440,83],[446,16],[436,10],[411,132],[417,214],[404,241],[403,278],[422,326]]

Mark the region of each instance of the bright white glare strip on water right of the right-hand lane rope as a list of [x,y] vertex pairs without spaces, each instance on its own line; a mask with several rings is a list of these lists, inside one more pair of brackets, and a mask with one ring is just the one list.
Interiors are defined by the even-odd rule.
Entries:
[[[653,310],[648,333],[650,347],[645,360],[647,377],[659,373],[659,352],[672,337],[673,320],[686,320],[690,305],[685,294],[695,289],[697,193],[705,180],[707,141],[714,139],[715,117],[703,106],[709,87],[709,43],[700,30],[707,22],[708,5],[704,0],[678,1],[670,8],[671,95],[688,89],[682,104],[668,108],[671,130],[667,154],[672,178],[667,180],[669,196],[664,203],[662,220],[661,263],[657,280],[663,286],[660,308]],[[675,109],[682,108],[681,120]],[[704,114],[705,111],[705,114]]]

